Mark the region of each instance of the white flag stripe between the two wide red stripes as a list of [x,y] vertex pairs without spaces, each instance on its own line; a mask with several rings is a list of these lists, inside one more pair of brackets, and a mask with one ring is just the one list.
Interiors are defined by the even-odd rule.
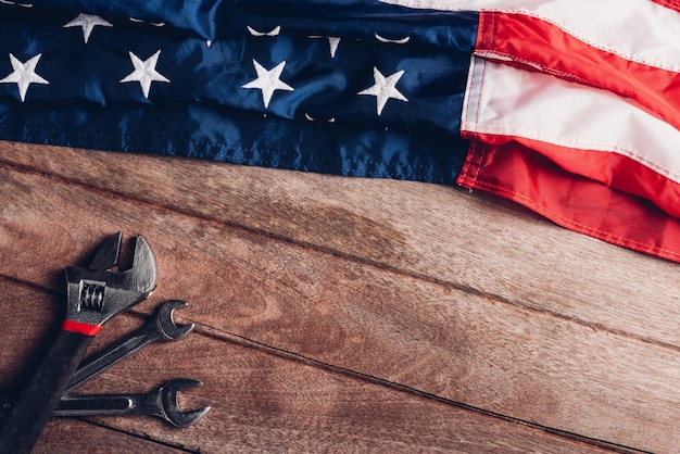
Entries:
[[628,156],[680,182],[680,131],[606,90],[474,56],[462,130]]

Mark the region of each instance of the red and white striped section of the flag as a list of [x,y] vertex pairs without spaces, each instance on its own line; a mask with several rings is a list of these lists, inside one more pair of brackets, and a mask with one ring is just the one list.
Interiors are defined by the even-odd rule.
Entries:
[[389,1],[481,11],[459,185],[680,258],[680,2]]

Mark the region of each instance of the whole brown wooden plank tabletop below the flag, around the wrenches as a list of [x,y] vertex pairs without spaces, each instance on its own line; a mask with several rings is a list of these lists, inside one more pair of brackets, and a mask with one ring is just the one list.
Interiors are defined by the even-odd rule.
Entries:
[[[143,235],[196,330],[78,390],[203,381],[187,429],[52,418],[35,452],[680,452],[678,265],[481,193],[0,142],[0,386],[55,335],[67,265]],[[125,251],[125,249],[124,249]]]

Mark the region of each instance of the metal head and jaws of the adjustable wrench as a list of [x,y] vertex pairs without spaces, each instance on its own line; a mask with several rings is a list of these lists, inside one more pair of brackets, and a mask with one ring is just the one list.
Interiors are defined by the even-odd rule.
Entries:
[[151,248],[138,236],[129,269],[109,270],[117,265],[121,232],[110,237],[89,267],[66,268],[66,318],[88,325],[102,325],[123,310],[149,298],[156,285],[158,269]]

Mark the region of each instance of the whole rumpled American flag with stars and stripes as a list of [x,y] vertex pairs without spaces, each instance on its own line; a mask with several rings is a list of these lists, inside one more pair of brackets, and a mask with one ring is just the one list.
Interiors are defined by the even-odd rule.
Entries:
[[675,261],[679,73],[677,0],[0,0],[0,139],[461,185]]

